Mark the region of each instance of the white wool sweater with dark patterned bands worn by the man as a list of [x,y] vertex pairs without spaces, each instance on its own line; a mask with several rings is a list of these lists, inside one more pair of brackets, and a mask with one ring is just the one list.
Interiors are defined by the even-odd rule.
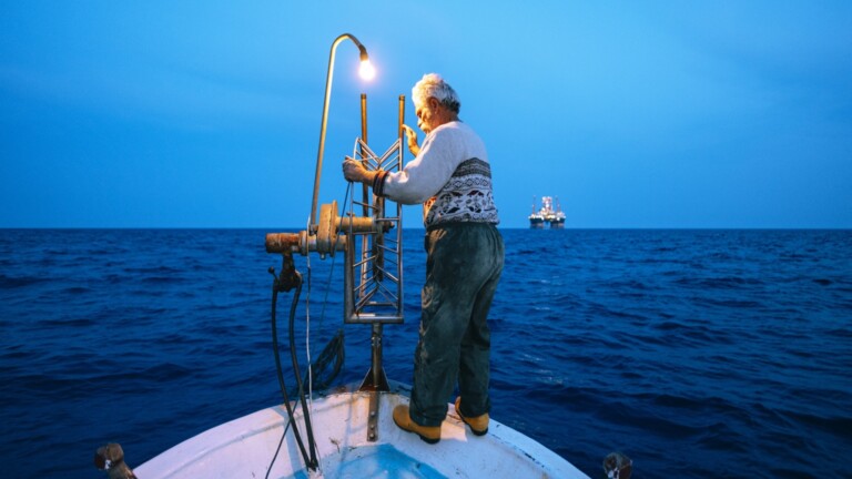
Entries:
[[378,177],[376,194],[423,203],[426,227],[450,222],[499,223],[485,143],[460,121],[433,130],[403,171]]

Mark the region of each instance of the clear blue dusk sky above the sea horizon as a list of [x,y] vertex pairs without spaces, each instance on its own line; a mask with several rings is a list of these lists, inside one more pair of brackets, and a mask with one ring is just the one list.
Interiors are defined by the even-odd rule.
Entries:
[[[308,4],[310,3],[310,4]],[[301,227],[438,72],[505,227],[852,227],[852,2],[3,1],[0,227]],[[406,120],[415,125],[409,99]],[[410,155],[406,156],[410,160]],[[419,225],[417,207],[405,224]]]

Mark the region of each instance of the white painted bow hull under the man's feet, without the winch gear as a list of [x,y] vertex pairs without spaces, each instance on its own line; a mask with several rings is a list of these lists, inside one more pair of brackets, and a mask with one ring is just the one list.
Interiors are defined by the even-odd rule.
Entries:
[[[398,393],[379,394],[378,440],[367,440],[368,393],[339,393],[314,399],[311,412],[321,473],[308,476],[292,430],[278,449],[287,414],[272,407],[223,424],[135,468],[158,478],[587,478],[571,463],[532,439],[490,421],[474,436],[449,406],[442,439],[428,445],[403,431],[390,417],[407,404]],[[300,431],[303,418],[296,412]],[[307,444],[305,442],[305,447]]]

